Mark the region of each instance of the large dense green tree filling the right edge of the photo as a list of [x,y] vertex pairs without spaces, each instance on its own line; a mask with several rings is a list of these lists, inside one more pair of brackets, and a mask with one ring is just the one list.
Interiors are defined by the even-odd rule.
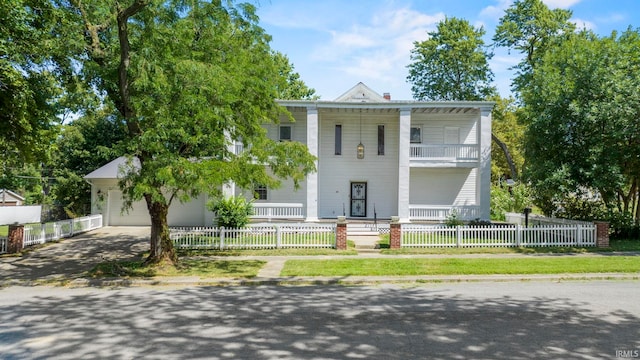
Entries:
[[583,31],[546,50],[523,91],[527,170],[546,212],[597,194],[640,219],[640,34]]

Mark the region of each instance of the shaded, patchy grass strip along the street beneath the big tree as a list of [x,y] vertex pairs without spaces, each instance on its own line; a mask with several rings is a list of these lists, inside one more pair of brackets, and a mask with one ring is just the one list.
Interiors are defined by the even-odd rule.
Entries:
[[182,260],[178,266],[145,265],[139,261],[111,261],[96,265],[88,275],[92,278],[148,278],[172,276],[251,278],[266,264],[259,260]]

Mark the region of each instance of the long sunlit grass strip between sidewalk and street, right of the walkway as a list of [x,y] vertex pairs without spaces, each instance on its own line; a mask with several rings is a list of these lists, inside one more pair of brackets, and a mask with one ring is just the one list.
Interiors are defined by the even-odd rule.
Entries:
[[288,260],[282,276],[401,276],[631,273],[638,256],[502,259],[335,259]]

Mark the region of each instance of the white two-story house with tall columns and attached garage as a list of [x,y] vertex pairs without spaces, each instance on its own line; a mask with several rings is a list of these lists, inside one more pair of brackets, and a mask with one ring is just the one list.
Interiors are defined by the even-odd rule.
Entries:
[[[297,191],[287,181],[278,189],[225,187],[228,195],[259,194],[256,218],[442,221],[455,211],[462,219],[489,219],[492,102],[392,101],[363,83],[334,101],[278,102],[295,122],[267,124],[268,135],[307,144],[318,171]],[[85,177],[93,185],[92,211],[104,214],[106,225],[149,224],[144,203],[120,214],[122,162]],[[203,197],[172,206],[169,224],[210,225],[205,204]]]

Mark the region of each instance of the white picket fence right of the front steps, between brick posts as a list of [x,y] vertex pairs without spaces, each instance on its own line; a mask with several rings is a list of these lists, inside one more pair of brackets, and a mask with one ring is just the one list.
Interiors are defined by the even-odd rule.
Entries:
[[403,247],[536,247],[596,246],[596,227],[545,225],[534,227],[403,224]]

